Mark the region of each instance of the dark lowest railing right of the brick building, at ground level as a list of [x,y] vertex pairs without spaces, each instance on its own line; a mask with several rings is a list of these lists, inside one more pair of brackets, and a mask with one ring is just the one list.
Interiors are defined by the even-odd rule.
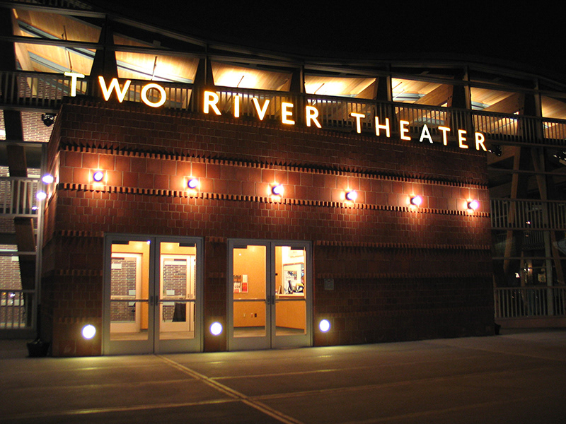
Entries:
[[566,287],[495,288],[495,317],[562,317]]

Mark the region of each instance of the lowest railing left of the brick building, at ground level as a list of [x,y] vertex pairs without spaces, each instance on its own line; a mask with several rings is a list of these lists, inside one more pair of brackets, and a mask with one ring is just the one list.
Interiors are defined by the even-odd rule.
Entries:
[[33,290],[0,290],[0,329],[33,327]]

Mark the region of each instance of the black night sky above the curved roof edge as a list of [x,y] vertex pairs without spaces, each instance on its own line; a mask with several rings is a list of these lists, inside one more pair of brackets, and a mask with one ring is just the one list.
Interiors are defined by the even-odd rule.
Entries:
[[[566,82],[564,6],[517,2],[93,0],[187,35],[309,57],[480,57]],[[536,6],[538,6],[537,11]]]

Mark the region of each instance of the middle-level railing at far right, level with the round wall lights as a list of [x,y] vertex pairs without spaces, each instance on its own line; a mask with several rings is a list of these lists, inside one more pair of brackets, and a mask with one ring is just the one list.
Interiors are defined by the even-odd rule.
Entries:
[[561,230],[566,228],[566,202],[491,199],[492,228]]

